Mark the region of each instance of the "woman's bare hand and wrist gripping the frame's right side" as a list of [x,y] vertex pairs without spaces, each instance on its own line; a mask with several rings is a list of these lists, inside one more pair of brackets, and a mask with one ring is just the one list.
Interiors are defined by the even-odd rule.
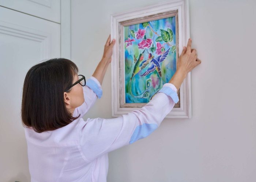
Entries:
[[186,78],[187,73],[201,63],[201,60],[197,58],[196,50],[191,49],[191,43],[192,40],[189,39],[187,47],[183,47],[183,51],[177,62],[176,72],[169,81],[169,83],[172,83],[177,88],[177,91]]

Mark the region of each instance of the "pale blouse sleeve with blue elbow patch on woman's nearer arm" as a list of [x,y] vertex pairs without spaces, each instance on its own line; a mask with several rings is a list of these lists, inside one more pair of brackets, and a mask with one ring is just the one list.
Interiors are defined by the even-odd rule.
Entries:
[[142,108],[112,119],[87,119],[79,124],[79,143],[84,156],[93,161],[102,154],[150,135],[178,102],[176,87],[165,83]]

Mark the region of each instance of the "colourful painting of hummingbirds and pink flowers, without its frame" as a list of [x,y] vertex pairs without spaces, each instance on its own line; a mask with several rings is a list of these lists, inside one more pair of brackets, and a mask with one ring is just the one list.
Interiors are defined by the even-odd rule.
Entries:
[[176,71],[175,16],[124,27],[125,103],[147,103]]

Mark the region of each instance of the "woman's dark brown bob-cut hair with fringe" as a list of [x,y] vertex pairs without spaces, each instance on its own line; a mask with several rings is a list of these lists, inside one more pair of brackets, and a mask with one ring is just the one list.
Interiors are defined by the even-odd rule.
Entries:
[[56,130],[77,119],[80,115],[73,117],[64,102],[64,91],[72,85],[76,74],[76,64],[64,58],[50,59],[31,67],[23,85],[23,126],[44,132]]

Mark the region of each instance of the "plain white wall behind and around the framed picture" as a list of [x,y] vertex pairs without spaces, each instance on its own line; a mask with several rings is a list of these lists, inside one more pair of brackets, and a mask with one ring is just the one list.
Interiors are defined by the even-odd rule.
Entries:
[[[159,0],[72,0],[72,60],[88,78],[110,14]],[[109,153],[110,182],[256,181],[256,1],[191,0],[192,119],[165,119],[149,137]],[[85,118],[111,118],[111,67]]]

